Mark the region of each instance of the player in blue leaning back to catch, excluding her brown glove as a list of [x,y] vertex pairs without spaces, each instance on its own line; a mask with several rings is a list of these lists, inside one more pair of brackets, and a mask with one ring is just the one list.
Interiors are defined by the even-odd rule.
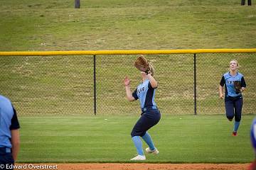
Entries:
[[139,99],[142,109],[142,116],[137,120],[137,123],[134,125],[132,129],[132,141],[137,149],[137,157],[132,158],[134,161],[142,161],[145,160],[146,157],[142,148],[142,139],[149,146],[146,148],[146,153],[148,154],[159,154],[159,151],[154,146],[154,143],[149,135],[149,130],[154,125],[156,125],[160,118],[161,114],[156,107],[156,103],[154,102],[154,96],[157,88],[157,81],[154,79],[154,67],[149,64],[150,72],[145,73],[141,72],[142,75],[142,84],[137,86],[137,89],[132,93],[130,89],[130,80],[128,77],[124,79],[125,91],[127,94],[127,99],[129,101],[136,101]]

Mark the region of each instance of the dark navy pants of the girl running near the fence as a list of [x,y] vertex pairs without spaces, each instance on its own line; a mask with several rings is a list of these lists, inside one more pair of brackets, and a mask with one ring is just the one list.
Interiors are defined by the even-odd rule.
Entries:
[[229,120],[235,116],[235,121],[240,122],[242,116],[242,96],[235,98],[225,97],[225,111]]

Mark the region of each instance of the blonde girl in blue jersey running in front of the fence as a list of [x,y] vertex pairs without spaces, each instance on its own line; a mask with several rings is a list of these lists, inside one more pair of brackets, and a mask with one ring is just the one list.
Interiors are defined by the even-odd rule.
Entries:
[[[223,86],[225,85],[225,112],[228,120],[232,121],[235,117],[233,136],[237,135],[240,120],[242,116],[242,91],[245,90],[246,84],[243,75],[238,72],[238,61],[230,61],[230,71],[223,74],[220,81],[219,94],[224,98]],[[234,81],[240,81],[240,91],[235,91]]]

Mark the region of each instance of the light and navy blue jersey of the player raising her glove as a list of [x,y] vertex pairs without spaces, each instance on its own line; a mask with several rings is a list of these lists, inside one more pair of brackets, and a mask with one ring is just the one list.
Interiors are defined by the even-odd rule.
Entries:
[[149,79],[146,79],[142,84],[137,86],[137,89],[132,93],[132,96],[137,100],[139,98],[141,108],[147,108],[149,106],[156,106],[154,102],[155,91]]

